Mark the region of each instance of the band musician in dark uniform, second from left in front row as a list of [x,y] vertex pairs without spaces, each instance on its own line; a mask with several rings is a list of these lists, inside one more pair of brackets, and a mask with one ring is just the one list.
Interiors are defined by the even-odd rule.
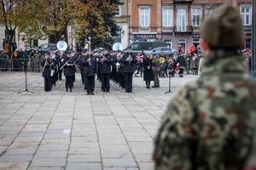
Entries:
[[73,80],[75,75],[75,59],[72,56],[72,51],[67,52],[67,57],[63,61],[64,65],[64,76],[66,77],[66,92],[72,92]]

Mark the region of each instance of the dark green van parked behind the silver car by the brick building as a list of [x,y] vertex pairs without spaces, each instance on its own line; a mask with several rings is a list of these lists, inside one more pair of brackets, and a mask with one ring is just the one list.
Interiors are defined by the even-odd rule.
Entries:
[[129,48],[131,52],[137,54],[138,52],[144,52],[148,54],[153,48],[168,47],[166,42],[155,41],[155,42],[132,42]]

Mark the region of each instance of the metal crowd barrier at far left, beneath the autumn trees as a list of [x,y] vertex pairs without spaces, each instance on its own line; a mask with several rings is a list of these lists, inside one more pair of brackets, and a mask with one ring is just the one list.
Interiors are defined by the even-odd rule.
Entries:
[[0,58],[0,71],[41,71],[41,59]]

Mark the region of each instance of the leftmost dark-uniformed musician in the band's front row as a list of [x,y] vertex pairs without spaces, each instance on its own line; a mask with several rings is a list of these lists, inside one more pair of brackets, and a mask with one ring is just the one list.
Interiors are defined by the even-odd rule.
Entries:
[[43,67],[43,77],[44,77],[44,91],[49,92],[52,87],[51,77],[50,77],[50,71],[51,71],[51,59],[50,59],[50,53],[45,52],[44,54],[44,60],[41,62],[41,66]]

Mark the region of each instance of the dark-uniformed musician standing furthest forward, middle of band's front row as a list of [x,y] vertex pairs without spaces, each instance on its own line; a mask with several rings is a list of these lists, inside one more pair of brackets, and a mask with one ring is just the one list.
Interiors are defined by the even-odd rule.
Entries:
[[84,77],[86,77],[87,95],[94,95],[95,75],[98,69],[96,57],[89,51],[88,54],[81,59]]

